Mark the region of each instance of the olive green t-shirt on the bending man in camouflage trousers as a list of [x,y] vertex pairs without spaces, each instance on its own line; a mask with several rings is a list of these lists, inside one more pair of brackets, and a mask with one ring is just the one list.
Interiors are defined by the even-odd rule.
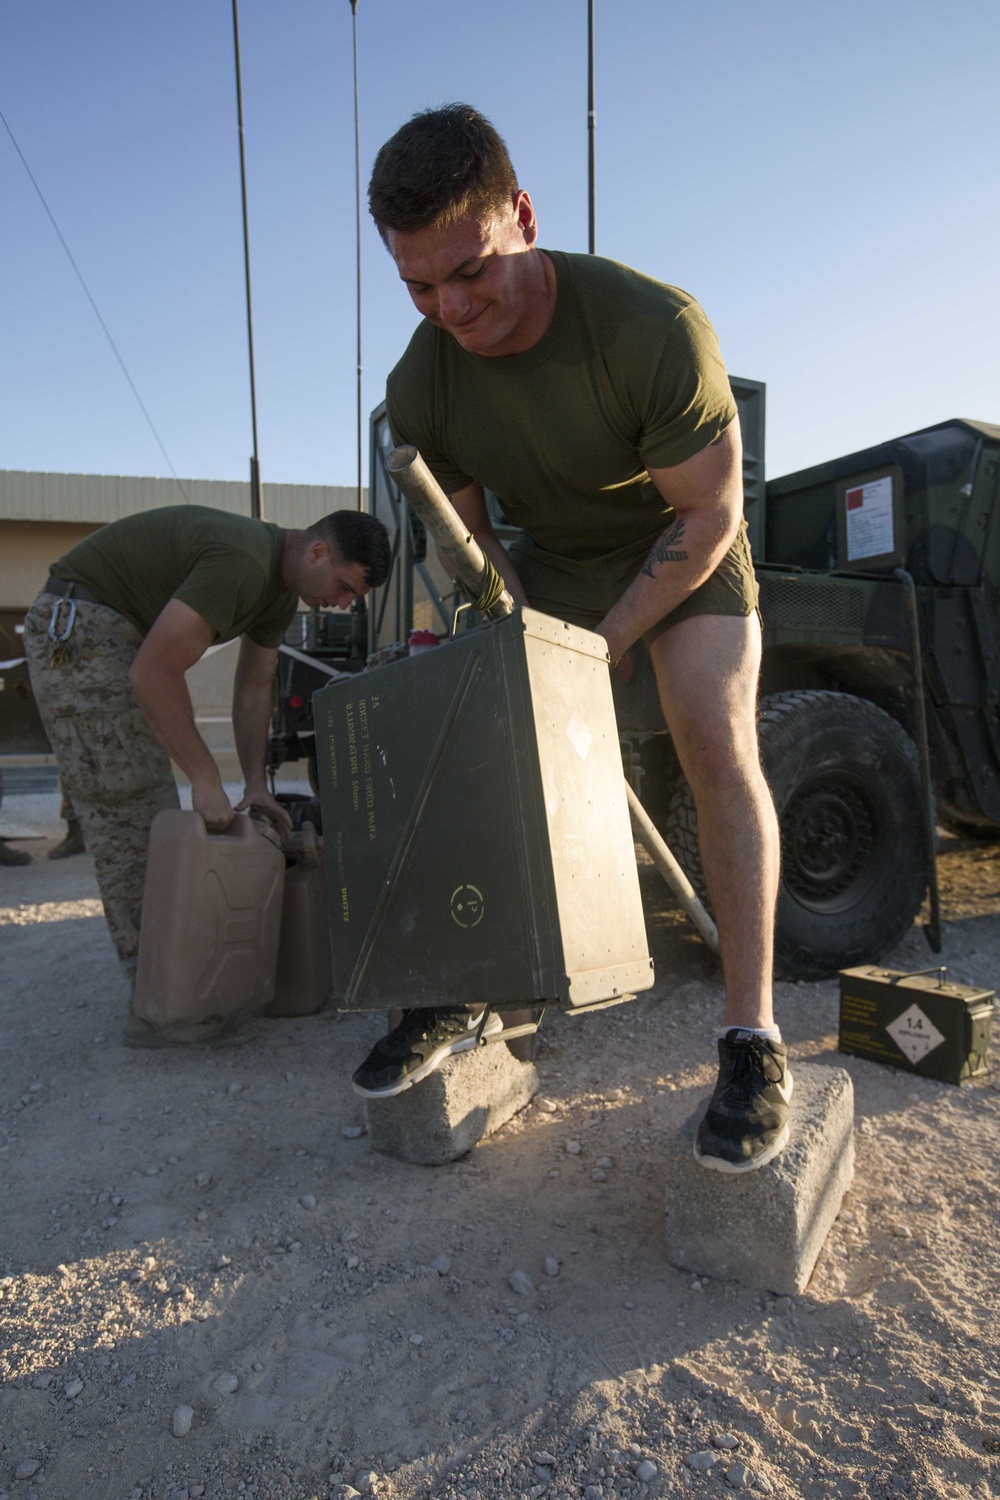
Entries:
[[52,564],[142,634],[171,598],[189,604],[219,640],[285,639],[298,596],[282,578],[285,532],[210,506],[163,506],[112,520]]

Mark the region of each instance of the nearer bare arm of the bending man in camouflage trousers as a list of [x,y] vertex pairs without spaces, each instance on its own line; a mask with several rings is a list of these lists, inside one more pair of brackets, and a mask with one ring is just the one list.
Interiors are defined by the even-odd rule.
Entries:
[[211,752],[195,728],[184,681],[187,668],[214,639],[216,632],[207,620],[190,604],[171,598],[136,651],[129,681],[150,729],[190,778],[192,806],[207,828],[220,831],[232,822],[232,807]]

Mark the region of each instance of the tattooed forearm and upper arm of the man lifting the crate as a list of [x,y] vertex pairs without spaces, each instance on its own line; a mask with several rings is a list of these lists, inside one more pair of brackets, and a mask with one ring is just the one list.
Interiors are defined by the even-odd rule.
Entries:
[[642,572],[597,627],[616,662],[712,573],[733,544],[744,513],[739,422],[675,468],[649,478],[675,510]]

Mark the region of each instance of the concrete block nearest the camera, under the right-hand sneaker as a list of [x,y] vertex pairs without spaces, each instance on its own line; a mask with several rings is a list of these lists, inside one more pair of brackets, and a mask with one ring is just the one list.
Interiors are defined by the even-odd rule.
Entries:
[[792,1134],[759,1172],[708,1172],[694,1136],[708,1100],[670,1143],[667,1258],[783,1296],[805,1288],[855,1174],[855,1089],[843,1068],[793,1062]]

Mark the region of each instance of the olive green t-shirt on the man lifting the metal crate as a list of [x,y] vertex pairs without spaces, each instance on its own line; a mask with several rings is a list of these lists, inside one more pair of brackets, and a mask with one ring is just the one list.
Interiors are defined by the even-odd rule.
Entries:
[[652,542],[670,507],[648,468],[700,453],[736,416],[718,340],[687,292],[595,255],[546,252],[556,308],[525,354],[483,356],[421,322],[387,414],[447,495],[492,489],[567,558]]

